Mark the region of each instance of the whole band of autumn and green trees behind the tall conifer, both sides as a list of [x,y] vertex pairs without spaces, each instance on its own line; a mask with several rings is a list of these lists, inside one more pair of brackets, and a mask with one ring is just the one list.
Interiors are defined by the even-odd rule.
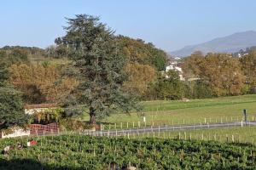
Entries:
[[[247,49],[240,59],[230,54],[191,54],[179,61],[183,72],[165,72],[170,57],[154,44],[130,37],[115,37],[117,54],[125,56],[124,71],[130,77],[126,90],[141,99],[199,99],[256,92],[256,51]],[[0,49],[8,71],[7,83],[23,92],[26,103],[60,102],[79,84],[72,64],[58,65],[51,59],[68,59],[68,48],[5,46]],[[32,58],[49,59],[32,64]],[[2,71],[1,74],[4,74]],[[183,74],[181,81],[179,74]],[[2,75],[2,78],[4,75]],[[5,76],[7,77],[7,76]]]

